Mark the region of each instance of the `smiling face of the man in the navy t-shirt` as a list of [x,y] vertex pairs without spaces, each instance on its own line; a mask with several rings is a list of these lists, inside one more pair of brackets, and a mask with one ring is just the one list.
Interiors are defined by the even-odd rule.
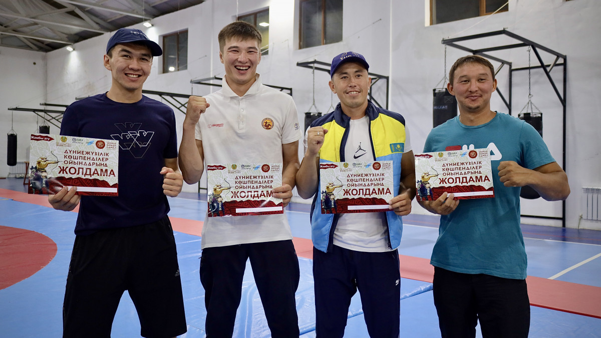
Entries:
[[[105,54],[105,68],[111,71],[110,92],[117,95],[142,95],[142,85],[150,75],[152,54],[144,45],[123,43]],[[141,98],[141,97],[140,97]]]

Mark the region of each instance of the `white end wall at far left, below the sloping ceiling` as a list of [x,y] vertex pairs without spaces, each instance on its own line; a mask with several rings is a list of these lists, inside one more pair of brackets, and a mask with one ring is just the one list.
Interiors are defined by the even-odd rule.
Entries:
[[29,136],[43,120],[32,112],[8,108],[43,109],[46,102],[46,54],[0,47],[0,177],[10,172],[7,165],[7,137],[12,128],[17,134],[17,161],[29,161]]

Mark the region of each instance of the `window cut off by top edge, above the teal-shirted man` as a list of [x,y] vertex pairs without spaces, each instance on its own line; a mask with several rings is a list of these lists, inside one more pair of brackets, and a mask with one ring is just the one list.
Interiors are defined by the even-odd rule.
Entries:
[[[492,14],[507,0],[430,0],[430,23],[450,22]],[[508,11],[505,5],[499,11]]]

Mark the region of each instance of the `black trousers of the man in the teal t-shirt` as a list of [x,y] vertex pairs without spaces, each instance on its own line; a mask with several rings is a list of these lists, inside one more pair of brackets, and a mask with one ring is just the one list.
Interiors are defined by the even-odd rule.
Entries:
[[528,337],[530,303],[526,280],[461,274],[434,268],[434,305],[443,338]]

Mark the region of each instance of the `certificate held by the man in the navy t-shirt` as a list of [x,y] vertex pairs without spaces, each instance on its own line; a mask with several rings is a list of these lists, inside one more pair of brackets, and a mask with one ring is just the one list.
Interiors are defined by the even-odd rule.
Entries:
[[32,134],[30,146],[29,194],[76,186],[78,195],[118,195],[118,141]]

